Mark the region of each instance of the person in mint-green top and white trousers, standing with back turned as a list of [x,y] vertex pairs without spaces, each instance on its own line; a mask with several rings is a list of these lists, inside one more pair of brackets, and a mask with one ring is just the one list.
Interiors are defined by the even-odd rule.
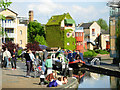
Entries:
[[48,55],[47,57],[48,59],[45,61],[45,66],[46,66],[46,72],[45,74],[50,74],[52,73],[52,59],[51,59],[51,56]]

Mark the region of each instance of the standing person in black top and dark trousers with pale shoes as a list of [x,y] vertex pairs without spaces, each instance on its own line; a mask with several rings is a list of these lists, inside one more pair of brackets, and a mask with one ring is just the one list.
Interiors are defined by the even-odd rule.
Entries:
[[29,55],[29,49],[26,51],[25,53],[25,59],[26,59],[26,66],[27,66],[27,74],[26,77],[31,77],[30,76],[30,68],[31,68],[31,62],[32,60],[30,59],[30,55]]

